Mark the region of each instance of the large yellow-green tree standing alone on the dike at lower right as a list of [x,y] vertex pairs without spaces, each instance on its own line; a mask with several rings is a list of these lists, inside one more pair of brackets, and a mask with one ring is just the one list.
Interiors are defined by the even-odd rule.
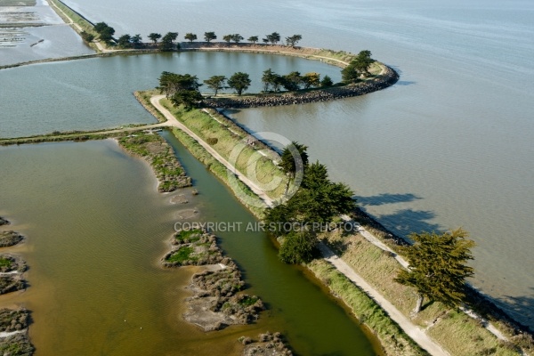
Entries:
[[444,303],[455,307],[465,301],[465,279],[473,276],[473,268],[466,265],[473,260],[474,241],[466,239],[462,229],[444,232],[413,233],[415,241],[409,247],[400,247],[409,262],[409,270],[402,270],[395,281],[417,288],[417,304],[412,315],[421,311],[423,301]]

